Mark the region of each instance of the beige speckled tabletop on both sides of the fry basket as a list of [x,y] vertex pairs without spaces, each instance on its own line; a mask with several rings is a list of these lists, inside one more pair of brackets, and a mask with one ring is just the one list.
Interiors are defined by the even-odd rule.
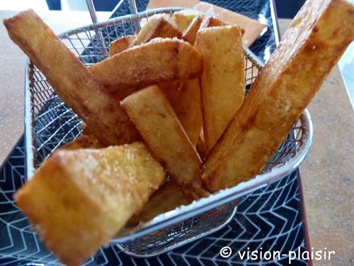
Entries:
[[[0,11],[0,20],[14,13]],[[91,22],[89,13],[80,11],[48,11],[40,16],[56,33]],[[280,31],[289,23],[280,19]],[[1,163],[23,133],[26,60],[2,23],[0,50]],[[354,261],[354,116],[338,67],[308,109],[314,123],[314,143],[301,170],[310,243],[314,250],[335,250],[334,262],[347,265]]]

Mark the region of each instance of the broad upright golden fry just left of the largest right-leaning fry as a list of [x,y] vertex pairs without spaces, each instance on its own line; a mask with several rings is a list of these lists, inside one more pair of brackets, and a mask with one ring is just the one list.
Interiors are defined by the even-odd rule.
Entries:
[[200,77],[202,117],[205,144],[210,151],[244,101],[241,28],[203,28],[198,31],[195,45],[204,58]]

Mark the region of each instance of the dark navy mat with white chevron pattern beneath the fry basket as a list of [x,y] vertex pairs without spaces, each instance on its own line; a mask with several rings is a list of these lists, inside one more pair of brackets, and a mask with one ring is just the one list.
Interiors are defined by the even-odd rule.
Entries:
[[[275,49],[269,0],[208,2],[266,22],[267,31],[251,45],[251,50],[263,60],[269,57]],[[138,11],[146,9],[147,3],[147,0],[137,1]],[[127,13],[130,13],[130,6],[124,1],[113,16]],[[0,170],[0,265],[59,265],[13,202],[13,193],[26,179],[24,149],[21,138]],[[98,250],[86,265],[288,265],[290,250],[301,252],[306,249],[298,179],[298,171],[295,171],[250,194],[241,201],[229,225],[169,253],[146,259],[134,258],[110,245]],[[219,255],[224,246],[232,249],[228,258]],[[247,257],[247,252],[255,250],[258,260]],[[283,256],[279,260],[277,256],[275,260],[261,258],[265,251],[278,251]],[[245,256],[241,259],[243,253]],[[306,264],[298,259],[292,261],[292,265]]]

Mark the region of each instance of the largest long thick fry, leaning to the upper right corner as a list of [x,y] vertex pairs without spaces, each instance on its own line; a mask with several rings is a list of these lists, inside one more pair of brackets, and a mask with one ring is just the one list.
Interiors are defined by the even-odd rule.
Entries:
[[205,163],[212,192],[261,172],[354,38],[354,6],[308,0]]

